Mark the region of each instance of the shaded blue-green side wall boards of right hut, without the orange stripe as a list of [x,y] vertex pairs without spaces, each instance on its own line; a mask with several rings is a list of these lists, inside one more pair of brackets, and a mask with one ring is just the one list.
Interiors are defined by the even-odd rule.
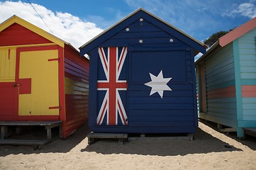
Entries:
[[205,62],[205,79],[207,95],[207,113],[199,113],[199,118],[236,127],[235,97],[215,98],[210,91],[235,85],[235,71],[232,43],[217,48],[208,55]]

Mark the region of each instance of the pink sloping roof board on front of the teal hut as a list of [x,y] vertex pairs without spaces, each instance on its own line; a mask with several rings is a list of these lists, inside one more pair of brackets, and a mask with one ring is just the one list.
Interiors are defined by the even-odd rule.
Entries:
[[256,27],[256,17],[252,18],[247,23],[244,23],[242,26],[230,31],[226,35],[223,35],[221,38],[219,38],[219,44],[221,45],[221,47],[224,47],[228,43],[232,42],[237,38],[240,38],[240,36],[244,35],[245,33],[249,32],[255,27]]

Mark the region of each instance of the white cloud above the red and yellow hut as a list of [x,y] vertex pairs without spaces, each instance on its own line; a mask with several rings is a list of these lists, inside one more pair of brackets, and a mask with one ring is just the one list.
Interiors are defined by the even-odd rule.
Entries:
[[101,28],[97,28],[95,23],[82,21],[80,18],[72,16],[70,13],[55,13],[38,4],[33,4],[33,6],[51,31],[45,26],[45,23],[41,20],[32,6],[21,1],[0,2],[0,23],[13,15],[19,16],[24,20],[33,23],[33,25],[48,31],[48,33],[52,32],[57,38],[70,42],[77,49],[103,31]]

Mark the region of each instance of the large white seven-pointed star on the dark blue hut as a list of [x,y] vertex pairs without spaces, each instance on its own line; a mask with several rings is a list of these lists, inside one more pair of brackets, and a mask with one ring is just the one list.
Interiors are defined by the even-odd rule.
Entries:
[[169,88],[169,86],[167,85],[167,83],[170,81],[170,79],[172,79],[172,77],[164,78],[162,75],[162,70],[157,77],[150,73],[150,78],[151,81],[145,84],[146,86],[150,86],[152,88],[150,91],[150,96],[157,92],[162,98],[164,91],[172,91],[172,89]]

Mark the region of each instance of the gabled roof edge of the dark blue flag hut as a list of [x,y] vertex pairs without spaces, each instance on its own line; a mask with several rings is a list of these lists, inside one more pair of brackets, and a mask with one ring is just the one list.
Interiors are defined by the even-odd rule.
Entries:
[[[134,11],[133,13],[130,13],[128,16],[126,16],[125,18],[121,19],[121,21],[118,21],[117,23],[115,23],[113,26],[111,26],[110,28],[104,30],[102,33],[100,33],[99,35],[97,35],[95,38],[89,40],[88,42],[86,42],[84,45],[82,45],[81,47],[79,47],[79,50],[80,50],[80,55],[84,55],[86,54],[87,52],[89,52],[90,50],[94,49],[94,47],[96,47],[96,45],[100,45],[101,42],[103,40],[106,40],[107,38],[110,38],[112,35],[111,35],[111,31],[113,29],[116,29],[116,30],[121,30],[123,28],[125,28],[126,26],[122,26],[123,22],[124,21],[128,21],[130,18],[133,18],[133,16],[135,16],[136,13],[139,13],[139,12],[144,12],[144,13],[147,13],[149,16],[151,16],[152,18],[155,18],[156,20],[162,22],[165,24],[165,26],[169,26],[170,28],[174,29],[174,30],[177,30],[177,32],[180,34],[180,35],[184,35],[186,36],[188,39],[196,42],[196,44],[198,45],[195,50],[198,52],[203,52],[205,53],[205,48],[207,47],[206,45],[204,45],[204,43],[200,42],[199,40],[196,40],[195,38],[191,37],[190,35],[188,35],[187,33],[184,33],[182,30],[179,30],[178,28],[172,26],[171,24],[167,23],[166,21],[162,20],[161,18],[155,16],[154,14],[146,11],[145,9],[143,8],[138,8],[136,11]],[[111,30],[111,31],[110,31]],[[116,33],[116,31],[114,31]],[[101,38],[100,40],[100,37],[103,37],[103,40]],[[85,49],[86,48],[86,49]]]

